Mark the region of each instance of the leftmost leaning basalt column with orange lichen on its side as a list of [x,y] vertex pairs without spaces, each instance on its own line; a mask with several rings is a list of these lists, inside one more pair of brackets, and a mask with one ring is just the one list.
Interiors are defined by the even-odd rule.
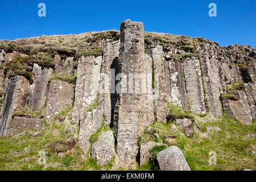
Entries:
[[7,134],[9,121],[14,111],[20,110],[26,103],[30,83],[23,76],[11,77],[6,84],[5,100],[1,107],[0,137]]

